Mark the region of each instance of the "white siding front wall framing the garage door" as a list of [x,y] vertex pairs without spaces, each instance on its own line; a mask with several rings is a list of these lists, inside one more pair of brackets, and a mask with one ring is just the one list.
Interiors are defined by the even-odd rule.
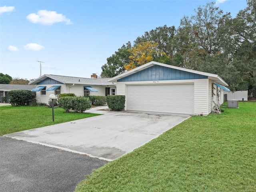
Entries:
[[[208,79],[195,79],[195,80],[167,80],[158,81],[140,81],[140,82],[117,82],[116,89],[118,95],[127,95],[127,85],[139,84],[191,84],[194,83],[194,114],[208,115]],[[125,110],[127,110],[127,103],[125,103]]]

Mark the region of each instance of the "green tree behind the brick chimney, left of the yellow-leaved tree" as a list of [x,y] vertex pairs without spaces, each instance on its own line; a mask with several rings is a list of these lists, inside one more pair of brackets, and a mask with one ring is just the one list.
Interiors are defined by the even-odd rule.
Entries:
[[125,64],[128,64],[131,53],[128,51],[131,48],[131,42],[126,43],[115,54],[107,58],[107,64],[104,64],[101,69],[102,78],[111,78],[119,74],[124,73],[126,70],[124,68]]

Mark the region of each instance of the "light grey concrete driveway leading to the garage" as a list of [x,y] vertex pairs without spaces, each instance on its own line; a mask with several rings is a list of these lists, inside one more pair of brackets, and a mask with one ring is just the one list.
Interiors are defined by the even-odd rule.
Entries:
[[184,114],[102,111],[103,115],[7,134],[18,140],[42,144],[102,160],[114,160],[158,137],[188,119]]

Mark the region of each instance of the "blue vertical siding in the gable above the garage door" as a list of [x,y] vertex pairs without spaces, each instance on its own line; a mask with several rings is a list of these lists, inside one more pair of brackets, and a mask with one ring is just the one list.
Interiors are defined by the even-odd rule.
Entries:
[[207,79],[207,76],[154,65],[137,73],[117,80],[126,81],[159,81],[159,80],[184,80],[184,79]]

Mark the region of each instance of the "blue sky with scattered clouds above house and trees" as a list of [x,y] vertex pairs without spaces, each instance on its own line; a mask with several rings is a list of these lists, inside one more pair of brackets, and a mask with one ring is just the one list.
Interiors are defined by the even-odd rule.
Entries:
[[[176,26],[205,0],[1,0],[0,72],[28,80],[90,78],[106,58],[145,31]],[[215,0],[236,16],[246,0]]]

